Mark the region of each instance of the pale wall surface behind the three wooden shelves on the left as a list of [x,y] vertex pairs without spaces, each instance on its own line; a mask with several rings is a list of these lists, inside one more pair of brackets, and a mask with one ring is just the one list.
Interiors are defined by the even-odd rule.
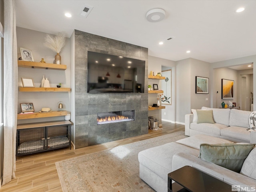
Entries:
[[[44,46],[46,33],[17,27],[17,48],[26,48],[32,51],[35,62],[40,62],[42,58],[47,63],[54,62],[56,53]],[[66,38],[66,44],[60,52],[61,63],[67,65],[66,70],[46,70],[37,68],[18,68],[18,86],[22,86],[21,78],[33,78],[35,87],[40,87],[43,75],[50,81],[51,87],[61,82],[62,87],[70,87],[70,39]],[[62,101],[64,110],[70,111],[70,93],[68,92],[18,92],[18,113],[20,103],[32,102],[35,112],[48,107],[53,111],[58,110],[58,102]],[[18,124],[64,120],[64,117],[36,118],[29,120],[18,120]]]

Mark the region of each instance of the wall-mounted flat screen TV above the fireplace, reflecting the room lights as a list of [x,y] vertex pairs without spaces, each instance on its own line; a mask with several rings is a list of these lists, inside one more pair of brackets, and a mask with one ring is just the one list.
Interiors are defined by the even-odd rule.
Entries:
[[88,51],[88,93],[144,93],[145,61]]

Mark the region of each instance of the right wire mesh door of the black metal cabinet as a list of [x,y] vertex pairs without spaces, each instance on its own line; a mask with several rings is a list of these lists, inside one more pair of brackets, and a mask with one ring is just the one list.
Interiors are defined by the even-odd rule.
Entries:
[[46,150],[70,146],[70,124],[46,127]]

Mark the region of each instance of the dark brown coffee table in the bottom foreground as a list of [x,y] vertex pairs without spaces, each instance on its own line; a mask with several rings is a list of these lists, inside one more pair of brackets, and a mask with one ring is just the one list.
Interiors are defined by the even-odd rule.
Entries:
[[[172,183],[172,180],[175,182]],[[168,174],[168,192],[231,192],[231,187],[191,166]]]

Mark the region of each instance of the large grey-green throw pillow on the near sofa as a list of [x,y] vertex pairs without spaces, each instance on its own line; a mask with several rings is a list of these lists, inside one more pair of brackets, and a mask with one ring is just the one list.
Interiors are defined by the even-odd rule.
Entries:
[[199,158],[239,173],[254,146],[236,143],[201,144]]

